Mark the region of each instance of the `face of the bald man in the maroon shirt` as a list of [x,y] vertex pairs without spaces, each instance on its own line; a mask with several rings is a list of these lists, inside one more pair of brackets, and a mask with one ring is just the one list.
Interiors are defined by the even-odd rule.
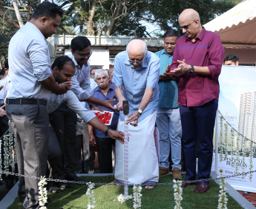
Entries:
[[188,39],[195,39],[197,37],[199,21],[197,19],[179,19],[180,28],[183,33],[188,36]]

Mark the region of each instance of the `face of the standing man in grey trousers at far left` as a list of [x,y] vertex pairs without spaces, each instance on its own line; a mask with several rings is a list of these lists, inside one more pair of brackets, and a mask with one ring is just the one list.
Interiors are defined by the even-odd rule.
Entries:
[[57,27],[59,27],[61,21],[61,17],[59,14],[56,14],[56,18],[49,18],[46,17],[42,18],[42,33],[45,36],[45,39],[49,38],[50,36],[57,33]]

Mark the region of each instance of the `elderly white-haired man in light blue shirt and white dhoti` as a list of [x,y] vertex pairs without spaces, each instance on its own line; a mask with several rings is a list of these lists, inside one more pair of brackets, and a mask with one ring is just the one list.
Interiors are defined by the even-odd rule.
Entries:
[[[114,61],[114,78],[118,110],[122,101],[129,102],[128,123],[128,183],[156,183],[159,179],[157,150],[154,142],[154,125],[159,98],[160,59],[148,52],[142,40],[134,39]],[[117,130],[124,130],[124,114],[120,112]],[[124,182],[124,145],[116,143],[116,183]],[[152,189],[154,186],[145,186]]]

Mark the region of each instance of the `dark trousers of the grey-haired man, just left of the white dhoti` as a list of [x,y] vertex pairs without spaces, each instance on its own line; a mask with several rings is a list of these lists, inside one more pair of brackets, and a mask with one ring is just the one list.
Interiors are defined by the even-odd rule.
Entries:
[[113,173],[112,147],[115,140],[111,138],[97,137],[98,162],[100,173]]

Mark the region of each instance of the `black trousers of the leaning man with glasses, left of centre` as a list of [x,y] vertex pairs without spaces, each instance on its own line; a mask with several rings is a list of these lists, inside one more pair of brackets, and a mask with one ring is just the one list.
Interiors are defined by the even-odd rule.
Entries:
[[50,120],[62,150],[62,157],[56,168],[55,178],[65,179],[65,176],[76,176],[76,113],[67,105],[62,104],[50,113]]

